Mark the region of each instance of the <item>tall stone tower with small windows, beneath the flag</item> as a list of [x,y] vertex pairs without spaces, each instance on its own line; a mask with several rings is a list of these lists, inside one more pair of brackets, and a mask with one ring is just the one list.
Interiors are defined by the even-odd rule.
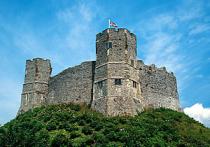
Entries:
[[127,29],[97,34],[92,108],[112,116],[136,114],[135,102],[141,103],[136,54],[136,36]]

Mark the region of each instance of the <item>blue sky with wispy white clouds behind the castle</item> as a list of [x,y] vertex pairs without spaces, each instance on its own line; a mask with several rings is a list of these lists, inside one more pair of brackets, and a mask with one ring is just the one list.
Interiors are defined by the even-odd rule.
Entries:
[[175,73],[182,108],[210,126],[206,0],[1,0],[0,124],[18,111],[26,59],[50,59],[53,75],[95,60],[95,35],[109,18],[137,35],[139,59]]

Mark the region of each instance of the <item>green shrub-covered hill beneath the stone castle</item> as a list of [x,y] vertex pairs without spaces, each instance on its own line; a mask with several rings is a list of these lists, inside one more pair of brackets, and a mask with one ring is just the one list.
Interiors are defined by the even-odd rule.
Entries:
[[0,128],[0,146],[210,146],[210,129],[183,113],[105,117],[73,104],[36,108]]

